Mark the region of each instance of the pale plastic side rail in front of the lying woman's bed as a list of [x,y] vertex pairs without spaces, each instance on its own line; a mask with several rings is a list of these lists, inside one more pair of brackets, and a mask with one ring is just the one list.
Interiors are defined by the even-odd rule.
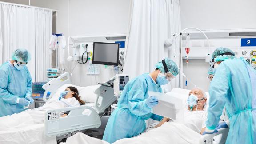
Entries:
[[[68,116],[60,117],[65,111],[70,111]],[[99,128],[101,121],[94,108],[78,106],[46,111],[44,125],[45,135],[52,136],[88,128]]]

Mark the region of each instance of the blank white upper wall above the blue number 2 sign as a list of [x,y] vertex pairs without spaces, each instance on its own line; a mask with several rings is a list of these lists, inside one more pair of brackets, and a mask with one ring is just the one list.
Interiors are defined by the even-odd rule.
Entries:
[[181,28],[256,28],[256,0],[180,0]]

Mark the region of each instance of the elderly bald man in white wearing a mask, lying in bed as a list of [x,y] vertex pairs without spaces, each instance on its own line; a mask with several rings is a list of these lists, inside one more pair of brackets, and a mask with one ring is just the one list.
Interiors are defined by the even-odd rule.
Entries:
[[[205,130],[207,113],[204,111],[207,98],[205,92],[199,88],[193,88],[188,96],[188,108],[184,111],[184,125],[193,131],[202,134]],[[160,127],[164,122],[169,121],[164,117],[155,128]]]

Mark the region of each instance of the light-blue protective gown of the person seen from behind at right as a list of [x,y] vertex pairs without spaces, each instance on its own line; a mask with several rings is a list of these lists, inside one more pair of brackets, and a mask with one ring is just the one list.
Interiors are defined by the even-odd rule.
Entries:
[[226,144],[256,144],[256,71],[242,59],[223,61],[209,94],[206,127],[216,128],[225,106],[230,120]]

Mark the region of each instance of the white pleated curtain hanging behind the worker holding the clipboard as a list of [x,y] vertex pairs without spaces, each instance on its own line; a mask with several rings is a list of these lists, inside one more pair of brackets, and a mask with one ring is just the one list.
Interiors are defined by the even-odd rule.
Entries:
[[[165,57],[179,65],[179,43],[168,48],[164,41],[180,29],[179,0],[133,0],[123,73],[134,78],[152,72]],[[169,89],[178,87],[178,80]]]

